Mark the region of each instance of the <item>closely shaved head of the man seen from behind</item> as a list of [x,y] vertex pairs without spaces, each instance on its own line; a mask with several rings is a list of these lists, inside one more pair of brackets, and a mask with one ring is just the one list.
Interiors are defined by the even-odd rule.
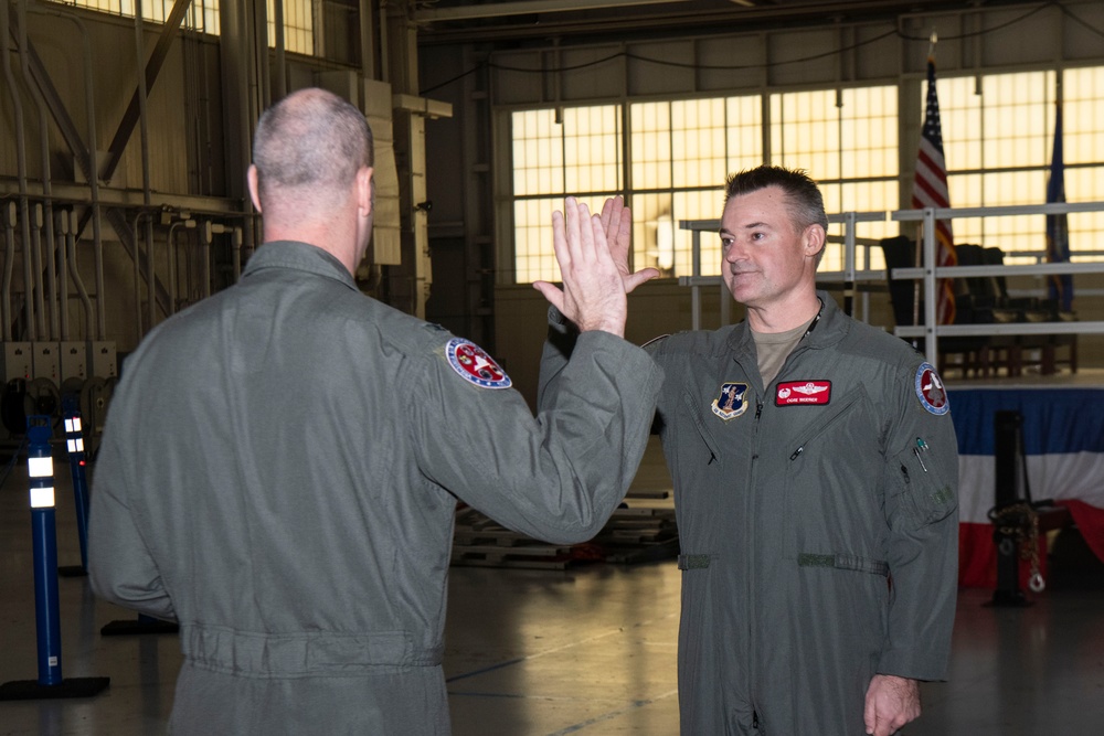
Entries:
[[302,89],[265,110],[253,142],[265,215],[286,205],[314,211],[341,204],[357,172],[373,164],[363,114],[323,89]]

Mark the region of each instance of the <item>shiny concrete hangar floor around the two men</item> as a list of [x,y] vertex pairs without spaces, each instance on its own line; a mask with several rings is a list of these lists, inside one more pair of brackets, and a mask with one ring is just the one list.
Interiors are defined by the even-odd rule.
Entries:
[[[649,450],[638,486],[661,482],[661,463]],[[55,468],[59,564],[75,565],[60,448]],[[20,458],[0,487],[0,683],[38,676],[26,497]],[[672,561],[455,567],[445,652],[454,733],[677,734],[679,575]],[[85,578],[63,577],[59,588],[64,676],[109,676],[110,686],[85,700],[0,702],[0,734],[164,733],[180,664],[176,636],[103,637],[102,626],[134,616],[96,600]],[[1104,585],[1053,586],[1028,608],[988,608],[989,597],[960,593],[952,681],[924,685],[924,716],[903,733],[1104,733]]]

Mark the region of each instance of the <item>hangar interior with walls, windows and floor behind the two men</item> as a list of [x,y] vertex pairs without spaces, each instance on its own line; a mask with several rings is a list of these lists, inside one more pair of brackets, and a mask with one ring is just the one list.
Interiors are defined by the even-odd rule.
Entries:
[[[912,303],[892,299],[887,267],[915,260],[891,265],[885,249],[925,238],[907,212],[930,56],[948,204],[963,209],[955,244],[1000,256],[956,276],[962,329],[934,337],[911,284]],[[1104,376],[1102,2],[0,0],[0,681],[34,670],[26,416],[60,417],[72,397],[94,450],[126,355],[236,280],[262,244],[245,191],[253,130],[295,89],[346,97],[375,135],[360,288],[482,345],[530,403],[546,308],[531,284],[558,278],[549,223],[563,196],[633,207],[634,265],[662,274],[630,297],[627,338],[643,343],[742,318],[718,288],[714,221],[725,174],[762,162],[824,189],[822,286],[891,331],[915,309],[913,334],[932,337],[951,387]],[[1062,200],[1048,194],[1055,171]],[[1050,292],[1048,216],[1066,222],[1072,306]],[[969,252],[959,265],[994,264]],[[934,294],[931,276],[921,284]],[[669,508],[668,489],[649,449],[629,504]],[[71,561],[78,520],[67,502],[57,513]],[[925,686],[928,715],[907,733],[1098,728],[1104,586],[1098,561],[1082,562],[1090,575],[1021,609],[983,608],[991,591],[964,588],[954,680]],[[677,730],[669,561],[456,567],[450,586],[455,733]],[[104,639],[127,612],[83,578],[61,588],[68,671],[112,687],[0,702],[0,733],[159,733],[171,634]]]

